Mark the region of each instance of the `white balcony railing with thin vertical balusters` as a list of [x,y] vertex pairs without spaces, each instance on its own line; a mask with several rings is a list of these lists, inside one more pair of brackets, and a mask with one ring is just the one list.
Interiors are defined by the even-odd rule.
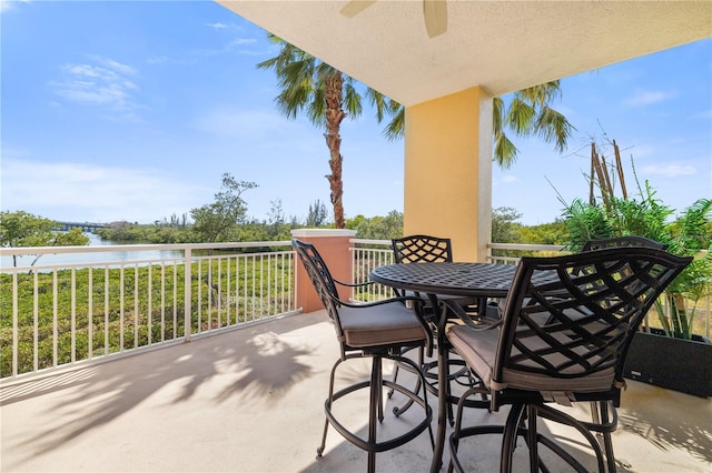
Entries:
[[[490,244],[488,261],[551,255],[557,245]],[[172,251],[169,258],[146,252]],[[388,240],[350,240],[354,282],[393,263]],[[125,252],[88,263],[87,253]],[[0,249],[0,255],[63,254],[72,263],[0,271],[0,379],[102,361],[192,336],[297,312],[295,259],[288,241]],[[38,260],[42,263],[42,259]],[[357,301],[392,296],[373,284]],[[710,336],[710,298],[698,306]]]

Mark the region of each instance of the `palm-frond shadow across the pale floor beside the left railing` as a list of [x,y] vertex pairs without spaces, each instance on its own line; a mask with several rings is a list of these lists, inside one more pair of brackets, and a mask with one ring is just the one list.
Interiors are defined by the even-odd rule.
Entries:
[[[21,432],[4,449],[42,455],[116,421],[139,404],[181,404],[196,396],[220,405],[240,395],[240,406],[276,403],[314,375],[300,361],[316,350],[299,338],[281,336],[314,319],[287,316],[70,373],[3,386],[3,405],[48,396],[39,431]],[[320,322],[320,320],[319,320]],[[27,459],[26,459],[27,460]],[[12,465],[6,465],[12,467]]]

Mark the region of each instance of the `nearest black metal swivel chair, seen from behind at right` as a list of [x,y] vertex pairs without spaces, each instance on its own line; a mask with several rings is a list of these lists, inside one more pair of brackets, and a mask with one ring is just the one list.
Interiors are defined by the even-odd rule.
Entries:
[[[464,471],[462,439],[502,434],[501,471],[513,467],[517,436],[528,447],[531,471],[548,471],[538,445],[573,470],[589,471],[562,445],[537,431],[537,420],[570,425],[591,445],[599,471],[615,471],[594,432],[613,432],[624,388],[623,365],[637,326],[655,299],[692,261],[660,249],[625,246],[555,258],[523,258],[498,330],[452,325],[447,340],[484,386],[461,397],[451,435],[451,471]],[[451,310],[451,302],[443,310]],[[485,394],[487,401],[468,400]],[[556,403],[595,401],[601,422],[580,421]],[[504,425],[463,426],[463,407],[498,411],[511,405]],[[611,414],[613,415],[611,417]]]

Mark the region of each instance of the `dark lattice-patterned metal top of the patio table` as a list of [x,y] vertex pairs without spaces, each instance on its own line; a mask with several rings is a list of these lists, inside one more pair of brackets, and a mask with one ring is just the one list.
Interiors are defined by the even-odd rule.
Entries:
[[400,263],[374,269],[370,280],[429,294],[504,298],[515,270],[493,263]]

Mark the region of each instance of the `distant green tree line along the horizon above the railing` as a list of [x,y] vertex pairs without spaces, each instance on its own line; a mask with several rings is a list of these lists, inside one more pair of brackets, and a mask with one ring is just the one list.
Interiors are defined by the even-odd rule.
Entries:
[[[214,205],[201,208],[204,212]],[[192,212],[191,212],[192,214]],[[202,214],[205,217],[205,213]],[[295,217],[285,218],[279,201],[273,202],[269,218],[264,221],[240,219],[229,224],[220,219],[226,215],[210,214],[196,225],[189,214],[176,214],[152,224],[113,222],[108,228],[97,229],[96,234],[103,240],[122,243],[207,243],[217,241],[286,241],[291,230],[300,228],[334,228],[327,221],[326,207],[319,201],[309,205],[309,214],[304,221]],[[497,243],[564,244],[567,232],[563,221],[526,227],[517,222],[522,215],[512,208],[497,208],[492,214],[492,241]],[[80,229],[55,232],[55,221],[24,211],[0,212],[0,245],[14,246],[59,246],[85,245],[89,239]],[[366,240],[390,240],[403,236],[403,213],[396,210],[386,215],[367,218],[356,215],[346,219],[346,228],[356,231],[356,238]]]

